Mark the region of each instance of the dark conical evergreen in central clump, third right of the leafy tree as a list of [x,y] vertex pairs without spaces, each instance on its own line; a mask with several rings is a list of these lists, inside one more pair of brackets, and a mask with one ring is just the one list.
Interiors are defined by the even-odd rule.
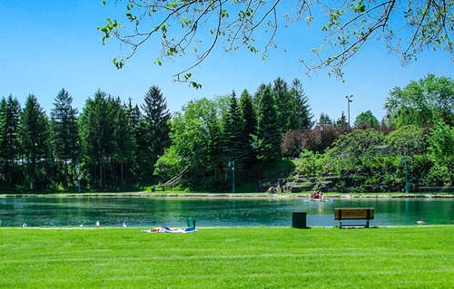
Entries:
[[281,159],[281,131],[271,87],[267,86],[260,98],[256,148],[263,162]]

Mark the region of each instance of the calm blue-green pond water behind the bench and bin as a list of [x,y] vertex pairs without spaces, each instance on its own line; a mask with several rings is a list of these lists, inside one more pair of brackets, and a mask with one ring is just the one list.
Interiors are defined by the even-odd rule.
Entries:
[[334,226],[334,207],[375,207],[371,225],[454,224],[453,199],[329,199],[224,197],[24,197],[0,198],[0,226],[291,226],[293,211],[308,226]]

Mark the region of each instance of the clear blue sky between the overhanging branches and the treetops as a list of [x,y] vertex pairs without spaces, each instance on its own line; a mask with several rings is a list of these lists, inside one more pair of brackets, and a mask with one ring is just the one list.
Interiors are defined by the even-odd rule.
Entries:
[[271,51],[266,61],[244,50],[215,50],[194,70],[202,83],[201,90],[194,90],[187,83],[173,82],[173,73],[183,68],[181,63],[153,65],[153,53],[159,50],[153,43],[140,49],[122,70],[114,68],[112,59],[126,51],[115,41],[102,45],[96,27],[122,9],[104,7],[101,0],[1,1],[0,96],[12,94],[24,105],[28,94],[33,93],[49,113],[54,96],[62,88],[70,92],[74,107],[81,110],[97,89],[141,103],[148,87],[157,85],[169,109],[179,111],[192,99],[226,95],[232,90],[253,93],[262,82],[280,76],[289,83],[294,78],[301,80],[316,119],[321,112],[339,118],[341,111],[347,112],[344,96],[353,94],[351,121],[367,110],[381,120],[383,104],[393,87],[403,87],[428,73],[454,78],[449,53],[426,51],[418,62],[402,67],[400,59],[387,52],[382,43],[365,45],[350,60],[344,71],[345,82],[329,78],[326,70],[308,78],[298,60],[309,59],[310,49],[319,46],[321,39],[318,29],[300,23],[280,30],[276,42],[287,52]]

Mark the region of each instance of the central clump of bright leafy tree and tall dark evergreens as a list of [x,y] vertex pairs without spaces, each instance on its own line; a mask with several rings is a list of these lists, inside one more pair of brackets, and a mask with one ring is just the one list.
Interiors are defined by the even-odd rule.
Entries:
[[155,174],[170,178],[189,169],[187,186],[226,188],[234,161],[237,178],[260,175],[281,159],[282,134],[308,130],[311,108],[301,82],[281,78],[262,84],[254,95],[235,92],[215,100],[190,101],[172,120],[172,145],[158,159]]

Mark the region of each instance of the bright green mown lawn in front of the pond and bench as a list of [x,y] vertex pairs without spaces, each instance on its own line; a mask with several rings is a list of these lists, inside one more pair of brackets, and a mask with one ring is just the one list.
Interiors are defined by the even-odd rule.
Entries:
[[0,229],[0,288],[454,288],[454,226]]

